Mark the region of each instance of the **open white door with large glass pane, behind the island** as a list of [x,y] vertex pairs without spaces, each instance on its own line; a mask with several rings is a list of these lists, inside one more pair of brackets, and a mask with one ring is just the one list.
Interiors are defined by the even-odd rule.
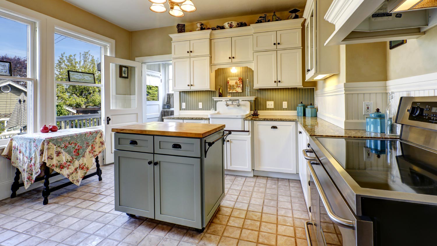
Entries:
[[114,133],[112,128],[142,123],[141,62],[103,57],[105,163],[114,162]]

